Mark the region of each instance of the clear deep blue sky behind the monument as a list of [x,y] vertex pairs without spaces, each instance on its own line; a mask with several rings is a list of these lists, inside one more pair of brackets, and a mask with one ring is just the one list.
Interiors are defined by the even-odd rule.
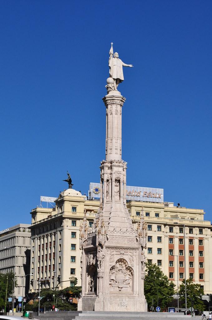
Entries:
[[134,66],[119,87],[127,184],[212,220],[211,12],[207,0],[0,1],[0,230],[30,223],[66,170],[82,193],[99,181],[111,41]]

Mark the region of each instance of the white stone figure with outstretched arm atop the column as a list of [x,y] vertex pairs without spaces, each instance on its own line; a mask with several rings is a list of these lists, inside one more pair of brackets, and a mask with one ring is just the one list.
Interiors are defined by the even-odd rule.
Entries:
[[[111,42],[110,48],[110,57],[109,57],[109,67],[110,67],[110,77],[114,80],[114,88],[117,90],[117,86],[120,82],[124,80],[123,67],[132,68],[132,64],[125,64],[118,57],[118,52],[115,52],[113,55],[113,43]],[[108,88],[107,88],[108,89]]]

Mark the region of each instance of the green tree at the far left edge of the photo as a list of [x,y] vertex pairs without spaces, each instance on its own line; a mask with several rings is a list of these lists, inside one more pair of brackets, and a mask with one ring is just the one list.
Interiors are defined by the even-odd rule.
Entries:
[[[7,285],[7,276],[8,276],[8,285]],[[5,307],[5,298],[7,300],[6,308],[8,308],[8,297],[12,295],[13,280],[14,280],[14,273],[12,272],[7,274],[0,273],[0,309]],[[7,297],[6,297],[6,288],[7,288]]]

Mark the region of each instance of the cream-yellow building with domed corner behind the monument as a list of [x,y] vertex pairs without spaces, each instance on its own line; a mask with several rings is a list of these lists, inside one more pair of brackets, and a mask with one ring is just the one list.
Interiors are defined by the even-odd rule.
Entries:
[[[87,200],[79,191],[67,189],[60,193],[55,204],[54,208],[37,207],[31,211],[30,292],[38,291],[39,282],[42,288],[58,285],[61,289],[74,285],[77,278],[77,285],[81,285],[80,223],[86,215],[92,227],[99,201]],[[144,215],[148,262],[160,266],[176,288],[186,271],[187,279],[201,284],[205,294],[211,293],[212,232],[210,221],[204,220],[204,211],[174,206],[170,202],[133,200],[127,202],[127,208],[135,228]]]

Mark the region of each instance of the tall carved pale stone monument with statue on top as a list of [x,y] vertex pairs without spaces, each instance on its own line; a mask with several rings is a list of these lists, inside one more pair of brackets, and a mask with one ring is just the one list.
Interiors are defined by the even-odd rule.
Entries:
[[78,310],[147,311],[144,296],[146,224],[141,215],[137,228],[126,207],[126,162],[122,160],[122,108],[125,98],[117,91],[124,67],[113,56],[111,43],[107,79],[105,160],[100,166],[100,207],[92,228],[86,213],[80,226],[82,298]]

